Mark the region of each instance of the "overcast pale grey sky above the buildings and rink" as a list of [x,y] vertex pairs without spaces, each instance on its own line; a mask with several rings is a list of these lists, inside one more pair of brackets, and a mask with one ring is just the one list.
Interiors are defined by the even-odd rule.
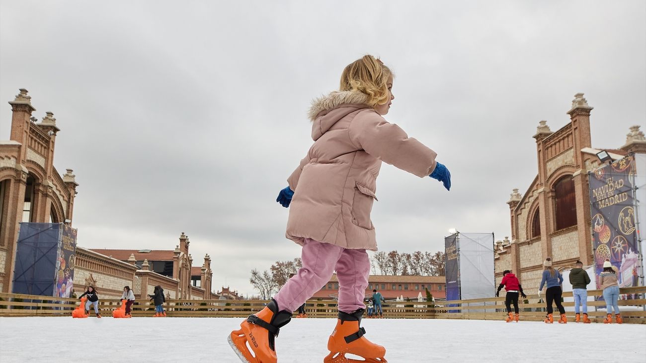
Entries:
[[[646,123],[639,1],[0,1],[0,140],[27,88],[61,129],[79,245],[213,258],[213,288],[300,256],[275,202],[312,143],[306,112],[343,68],[393,69],[386,119],[438,154],[452,189],[390,165],[373,207],[379,248],[438,251],[455,227],[510,235],[506,202],[537,172],[541,119],[585,92],[592,146]],[[244,4],[244,5],[243,5]]]

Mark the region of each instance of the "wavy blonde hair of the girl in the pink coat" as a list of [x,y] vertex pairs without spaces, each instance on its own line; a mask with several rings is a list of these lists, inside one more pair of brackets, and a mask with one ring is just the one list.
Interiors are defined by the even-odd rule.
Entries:
[[390,68],[370,54],[350,63],[341,74],[339,90],[359,91],[368,96],[370,107],[390,101],[388,78],[393,76]]

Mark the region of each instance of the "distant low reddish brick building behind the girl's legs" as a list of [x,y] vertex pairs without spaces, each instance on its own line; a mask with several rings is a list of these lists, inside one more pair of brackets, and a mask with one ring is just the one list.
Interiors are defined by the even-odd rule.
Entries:
[[[399,296],[404,299],[417,299],[419,293],[426,298],[426,289],[432,293],[433,298],[446,298],[446,279],[444,276],[391,276],[391,275],[370,275],[368,276],[368,287],[366,296],[371,296],[373,289],[379,291],[384,299],[395,300]],[[312,298],[333,298],[339,297],[339,280],[337,275],[332,275],[328,284],[318,290]]]

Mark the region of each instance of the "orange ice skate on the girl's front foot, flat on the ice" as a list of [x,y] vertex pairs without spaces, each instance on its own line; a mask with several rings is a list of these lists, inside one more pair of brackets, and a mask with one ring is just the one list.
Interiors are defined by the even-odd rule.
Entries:
[[[328,339],[330,353],[324,358],[324,363],[384,363],[388,362],[386,348],[370,342],[364,334],[366,329],[359,327],[364,309],[359,309],[351,314],[339,311],[337,327]],[[364,358],[357,360],[347,358],[346,354],[358,355]]]

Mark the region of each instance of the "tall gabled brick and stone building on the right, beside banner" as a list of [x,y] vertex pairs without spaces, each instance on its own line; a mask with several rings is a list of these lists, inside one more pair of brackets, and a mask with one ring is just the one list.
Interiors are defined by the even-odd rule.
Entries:
[[622,147],[592,149],[591,110],[583,94],[576,94],[567,125],[552,132],[547,121],[539,123],[534,135],[538,174],[525,194],[514,189],[507,202],[512,239],[496,243],[497,282],[510,269],[526,291],[536,291],[547,256],[559,269],[576,260],[594,263],[588,172],[601,165],[597,152],[607,150],[617,160],[629,152],[646,152],[646,140],[640,127],[633,126]]

